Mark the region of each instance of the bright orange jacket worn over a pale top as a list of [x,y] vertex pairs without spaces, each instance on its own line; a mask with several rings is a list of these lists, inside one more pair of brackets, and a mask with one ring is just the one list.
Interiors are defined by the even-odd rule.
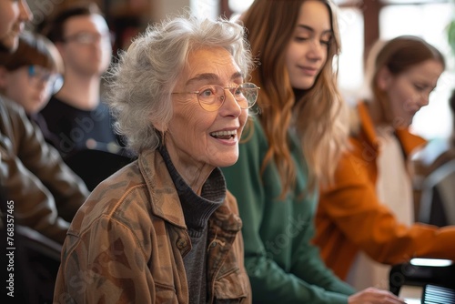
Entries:
[[[346,279],[359,250],[389,265],[414,257],[455,260],[455,227],[408,227],[379,201],[379,142],[367,107],[359,104],[358,110],[359,136],[350,138],[351,150],[341,157],[334,183],[320,192],[314,242],[327,266]],[[425,143],[408,130],[397,136],[405,155]]]

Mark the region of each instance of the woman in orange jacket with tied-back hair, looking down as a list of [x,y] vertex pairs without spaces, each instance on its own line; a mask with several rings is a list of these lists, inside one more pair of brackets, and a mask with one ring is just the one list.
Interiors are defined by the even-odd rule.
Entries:
[[[410,133],[444,70],[440,52],[417,36],[379,42],[370,53],[371,96],[351,113],[350,148],[322,187],[315,244],[330,269],[354,286],[389,288],[389,267],[410,258],[455,259],[455,228],[414,222]],[[368,257],[367,257],[368,256]]]

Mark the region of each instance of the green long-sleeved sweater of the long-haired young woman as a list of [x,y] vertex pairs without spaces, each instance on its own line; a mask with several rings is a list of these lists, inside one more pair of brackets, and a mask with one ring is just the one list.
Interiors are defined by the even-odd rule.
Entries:
[[289,132],[297,185],[279,199],[278,169],[270,164],[260,174],[268,150],[263,128],[255,119],[253,136],[239,145],[236,165],[223,168],[227,188],[238,199],[243,221],[245,267],[254,303],[347,303],[354,290],[324,265],[310,244],[318,195],[303,195],[307,167],[298,138]]

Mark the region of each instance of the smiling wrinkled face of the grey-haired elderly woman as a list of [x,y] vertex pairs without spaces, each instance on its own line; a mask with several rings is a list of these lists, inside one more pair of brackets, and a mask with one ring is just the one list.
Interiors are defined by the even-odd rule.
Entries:
[[[173,92],[195,92],[207,85],[226,87],[243,83],[238,65],[224,48],[194,51],[187,62]],[[248,109],[241,109],[229,90],[225,90],[225,94],[223,105],[214,111],[199,106],[197,94],[172,95],[174,116],[168,124],[166,147],[176,167],[185,170],[209,167],[211,170],[231,166],[238,160],[238,140]]]

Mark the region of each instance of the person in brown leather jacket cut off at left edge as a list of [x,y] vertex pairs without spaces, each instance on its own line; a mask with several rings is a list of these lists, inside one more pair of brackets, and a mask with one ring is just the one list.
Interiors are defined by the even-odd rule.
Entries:
[[[0,60],[21,52],[19,35],[31,18],[25,0],[0,0]],[[45,143],[39,128],[25,116],[24,108],[0,93],[0,259],[5,265],[1,272],[4,301],[34,304],[52,300],[59,249],[68,222],[87,195],[83,181]]]

